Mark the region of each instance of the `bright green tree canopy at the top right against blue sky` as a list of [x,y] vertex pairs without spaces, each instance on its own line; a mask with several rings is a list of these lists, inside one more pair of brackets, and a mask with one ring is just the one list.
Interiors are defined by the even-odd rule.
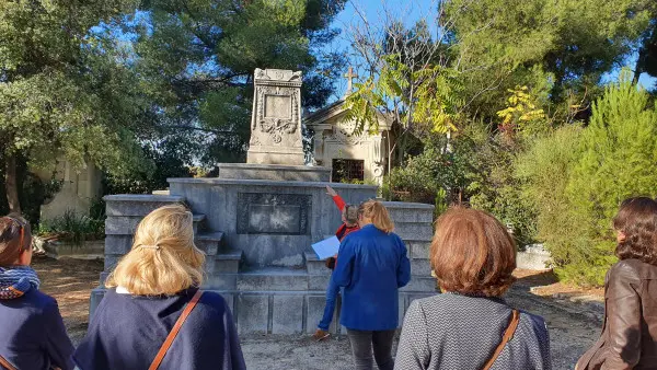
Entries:
[[[569,114],[602,92],[601,77],[623,66],[654,28],[653,0],[456,0],[446,2],[453,22],[456,62],[469,93],[486,86],[471,111],[494,117],[500,93],[515,85],[550,84],[550,102]],[[451,24],[451,23],[450,23]],[[564,103],[565,107],[560,104]]]

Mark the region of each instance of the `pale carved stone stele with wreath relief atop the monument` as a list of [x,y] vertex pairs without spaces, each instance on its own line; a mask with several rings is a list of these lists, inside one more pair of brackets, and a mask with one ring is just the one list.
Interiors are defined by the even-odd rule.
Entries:
[[246,163],[303,165],[301,72],[255,70]]

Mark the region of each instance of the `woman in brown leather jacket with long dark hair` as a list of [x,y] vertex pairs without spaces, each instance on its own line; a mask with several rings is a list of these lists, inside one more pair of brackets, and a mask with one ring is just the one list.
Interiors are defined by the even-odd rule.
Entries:
[[656,369],[657,201],[625,199],[613,229],[620,262],[607,273],[602,335],[577,369]]

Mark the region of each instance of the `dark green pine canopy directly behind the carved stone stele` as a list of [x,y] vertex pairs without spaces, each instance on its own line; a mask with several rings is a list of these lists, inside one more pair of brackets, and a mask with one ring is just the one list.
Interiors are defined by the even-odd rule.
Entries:
[[344,0],[146,1],[126,32],[160,130],[207,134],[204,162],[239,161],[249,138],[255,68],[303,72],[303,100],[321,107],[343,58],[319,48]]

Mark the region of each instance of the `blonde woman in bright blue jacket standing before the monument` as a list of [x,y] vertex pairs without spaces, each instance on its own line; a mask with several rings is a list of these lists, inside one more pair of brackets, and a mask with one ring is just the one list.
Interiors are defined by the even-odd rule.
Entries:
[[341,324],[347,328],[356,369],[394,367],[392,339],[399,326],[399,288],[411,280],[404,242],[393,233],[385,207],[376,200],[360,206],[360,230],[339,246],[333,279],[345,287]]

